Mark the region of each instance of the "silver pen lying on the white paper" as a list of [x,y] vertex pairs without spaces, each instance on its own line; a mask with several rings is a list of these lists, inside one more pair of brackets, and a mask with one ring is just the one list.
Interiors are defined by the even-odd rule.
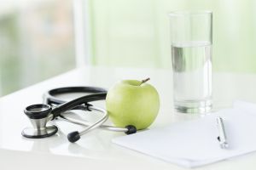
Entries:
[[218,142],[222,149],[226,149],[229,147],[229,144],[227,142],[227,137],[224,129],[224,122],[223,119],[218,116],[217,117],[217,126],[218,126]]

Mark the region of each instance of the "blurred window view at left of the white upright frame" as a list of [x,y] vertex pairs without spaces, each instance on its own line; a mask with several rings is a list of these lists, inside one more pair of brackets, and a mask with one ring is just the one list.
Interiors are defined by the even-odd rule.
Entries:
[[2,0],[0,95],[75,67],[73,1]]

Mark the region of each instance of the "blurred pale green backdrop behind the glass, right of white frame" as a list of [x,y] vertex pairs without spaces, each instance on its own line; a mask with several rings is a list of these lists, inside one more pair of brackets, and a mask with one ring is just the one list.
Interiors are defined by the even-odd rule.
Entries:
[[256,71],[256,1],[90,0],[93,64],[171,67],[168,13],[212,10],[214,71]]

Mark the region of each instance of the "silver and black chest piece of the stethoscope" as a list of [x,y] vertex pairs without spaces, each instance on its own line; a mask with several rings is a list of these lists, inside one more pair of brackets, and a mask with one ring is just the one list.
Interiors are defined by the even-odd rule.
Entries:
[[46,126],[52,119],[52,111],[49,105],[30,105],[26,107],[24,113],[32,122],[32,127],[26,127],[22,131],[22,136],[30,139],[42,139],[54,135],[58,132],[58,127]]

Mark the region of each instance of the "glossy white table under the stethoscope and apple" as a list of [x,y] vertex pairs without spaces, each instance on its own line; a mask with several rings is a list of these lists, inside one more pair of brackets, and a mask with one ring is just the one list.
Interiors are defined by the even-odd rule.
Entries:
[[[165,126],[197,118],[196,115],[177,114],[172,109],[172,71],[154,69],[117,69],[88,67],[69,71],[59,77],[40,82],[0,99],[0,169],[183,169],[176,165],[144,156],[111,143],[113,133],[96,130],[88,133],[77,144],[67,141],[66,134],[79,127],[57,122],[58,135],[47,139],[25,139],[21,130],[30,125],[23,110],[26,105],[42,103],[42,94],[49,88],[63,86],[99,86],[110,88],[120,79],[143,79],[160,94],[160,113],[150,128]],[[14,82],[15,83],[15,82]],[[229,107],[233,100],[256,102],[256,75],[213,74],[213,104],[215,110]],[[97,105],[104,107],[103,102]],[[256,153],[221,161],[198,169],[255,169]]]

